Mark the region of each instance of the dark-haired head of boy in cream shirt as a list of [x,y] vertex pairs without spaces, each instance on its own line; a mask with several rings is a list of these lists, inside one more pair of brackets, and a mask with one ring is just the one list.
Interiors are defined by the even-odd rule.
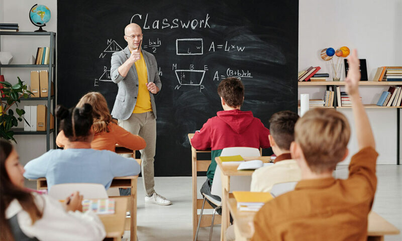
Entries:
[[281,150],[289,150],[294,141],[294,125],[298,115],[290,110],[274,113],[269,119],[269,133]]

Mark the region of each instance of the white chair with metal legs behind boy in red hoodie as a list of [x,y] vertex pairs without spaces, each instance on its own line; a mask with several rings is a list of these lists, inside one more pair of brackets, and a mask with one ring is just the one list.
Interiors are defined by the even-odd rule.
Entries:
[[[235,155],[240,155],[242,157],[260,157],[261,152],[259,149],[251,148],[251,147],[229,147],[229,148],[224,148],[221,153],[221,157],[235,156]],[[251,177],[247,177],[247,176],[246,177],[233,177],[232,180],[230,181],[230,185],[231,185],[231,187],[233,187],[233,190],[235,190],[235,191],[236,190],[250,190],[250,184],[251,184]],[[217,167],[215,169],[214,182],[212,183],[212,187],[211,187],[211,194],[217,195],[219,197],[222,196],[221,169],[220,169],[219,165],[217,165]],[[222,202],[220,200],[217,200],[214,197],[207,195],[205,193],[203,193],[203,196],[204,196],[204,200],[203,200],[203,205],[201,207],[201,212],[199,215],[197,229],[195,231],[194,241],[197,240],[199,225],[200,225],[201,219],[203,217],[205,201],[208,199],[210,202],[214,203],[217,206],[214,208],[214,211],[212,213],[210,239],[209,239],[210,241],[212,239],[212,231],[214,229],[215,214],[217,213],[217,210],[222,207]]]

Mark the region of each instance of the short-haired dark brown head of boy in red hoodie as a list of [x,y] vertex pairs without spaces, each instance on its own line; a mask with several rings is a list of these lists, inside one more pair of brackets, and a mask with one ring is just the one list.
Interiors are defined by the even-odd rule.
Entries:
[[244,85],[239,78],[226,78],[219,83],[218,94],[227,105],[231,107],[240,106],[244,100]]

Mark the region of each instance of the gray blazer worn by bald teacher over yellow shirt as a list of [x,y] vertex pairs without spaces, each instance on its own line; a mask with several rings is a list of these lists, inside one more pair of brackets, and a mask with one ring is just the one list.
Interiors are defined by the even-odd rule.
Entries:
[[[160,89],[162,88],[162,83],[159,79],[158,66],[156,64],[155,56],[148,53],[145,50],[141,50],[144,56],[145,64],[147,65],[148,82],[154,82],[155,85]],[[119,91],[116,95],[115,105],[113,106],[112,116],[117,119],[126,120],[130,118],[133,113],[135,104],[137,102],[138,95],[138,75],[135,68],[135,64],[131,67],[126,77],[119,74],[117,70],[126,60],[130,57],[131,53],[129,47],[119,52],[115,52],[112,55],[112,67],[111,67],[111,77],[112,81],[117,83],[119,86]],[[159,92],[158,92],[159,93]],[[149,92],[151,97],[152,111],[156,118],[156,105],[154,94]]]

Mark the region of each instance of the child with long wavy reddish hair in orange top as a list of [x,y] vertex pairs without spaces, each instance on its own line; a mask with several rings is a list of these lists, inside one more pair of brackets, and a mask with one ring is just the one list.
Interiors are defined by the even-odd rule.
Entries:
[[[109,150],[114,152],[116,144],[130,150],[142,150],[146,144],[142,137],[133,135],[112,119],[105,97],[99,92],[89,92],[81,97],[76,107],[82,107],[85,103],[93,108],[93,131],[95,133],[91,142],[91,148],[95,150]],[[56,138],[58,147],[68,149],[69,141],[60,131]]]

